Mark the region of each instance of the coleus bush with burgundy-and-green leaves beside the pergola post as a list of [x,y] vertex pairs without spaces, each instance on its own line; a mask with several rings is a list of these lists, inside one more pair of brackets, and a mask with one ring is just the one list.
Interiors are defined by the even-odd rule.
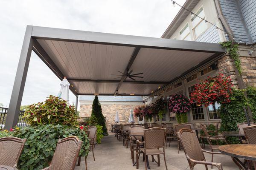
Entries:
[[29,105],[24,113],[24,117],[30,125],[79,125],[75,107],[67,105],[65,100],[52,95],[44,102]]

